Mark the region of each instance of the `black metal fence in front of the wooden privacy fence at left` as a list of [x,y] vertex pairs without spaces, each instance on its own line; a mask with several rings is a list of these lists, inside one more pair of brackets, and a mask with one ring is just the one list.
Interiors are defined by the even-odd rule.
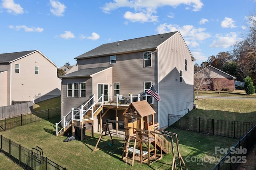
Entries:
[[61,108],[48,109],[44,111],[5,118],[0,120],[0,132],[37,121],[50,120],[56,117],[61,119]]

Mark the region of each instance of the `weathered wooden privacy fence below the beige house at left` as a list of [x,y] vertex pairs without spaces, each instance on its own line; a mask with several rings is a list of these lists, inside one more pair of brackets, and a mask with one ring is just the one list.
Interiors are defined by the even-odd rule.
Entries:
[[0,107],[0,120],[33,112],[33,102]]

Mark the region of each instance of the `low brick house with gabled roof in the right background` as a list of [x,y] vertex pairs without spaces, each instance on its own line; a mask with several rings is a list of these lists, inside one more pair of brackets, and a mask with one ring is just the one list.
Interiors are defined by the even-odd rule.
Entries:
[[[223,84],[224,89],[228,89],[230,91],[235,90],[235,79],[236,77],[229,75],[228,73],[225,73],[224,71],[221,71],[220,69],[217,69],[215,67],[212,67],[211,65],[208,65],[205,67],[206,71],[198,71],[197,73],[194,74],[194,78],[196,81],[196,77],[204,77],[206,79],[210,79],[211,83],[208,84],[205,89],[207,90],[216,90],[214,87],[214,81],[220,81]],[[207,75],[200,75],[201,72],[207,73]],[[195,83],[196,84],[196,83]]]

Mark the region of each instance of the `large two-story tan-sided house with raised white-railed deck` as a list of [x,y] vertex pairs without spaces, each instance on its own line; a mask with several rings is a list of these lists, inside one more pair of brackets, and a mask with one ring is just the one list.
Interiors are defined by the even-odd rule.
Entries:
[[[122,114],[132,101],[146,99],[160,128],[168,127],[168,114],[185,115],[194,107],[195,59],[178,31],[106,43],[75,59],[78,71],[60,77],[62,117],[81,110],[86,116],[80,105],[94,95],[93,105],[103,94],[103,110],[93,117],[94,131],[106,119],[124,121]],[[151,85],[160,102],[145,96]]]

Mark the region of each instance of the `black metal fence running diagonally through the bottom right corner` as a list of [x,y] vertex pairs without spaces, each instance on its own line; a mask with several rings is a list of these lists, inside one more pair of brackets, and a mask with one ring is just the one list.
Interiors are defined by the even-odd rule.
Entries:
[[246,155],[256,142],[256,125],[251,128],[212,170],[234,170],[240,164],[246,163]]

